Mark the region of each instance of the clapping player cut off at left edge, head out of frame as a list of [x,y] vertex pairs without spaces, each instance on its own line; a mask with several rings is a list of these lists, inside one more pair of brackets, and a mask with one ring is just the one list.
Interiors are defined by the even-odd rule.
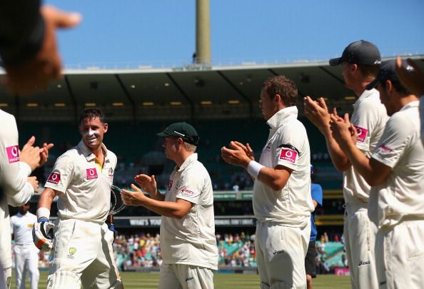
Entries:
[[22,206],[28,202],[34,191],[38,191],[36,177],[29,177],[32,171],[43,166],[49,158],[52,143],[44,143],[42,148],[34,147],[32,136],[21,151],[18,146],[18,128],[14,116],[0,110],[0,186],[3,198],[0,199],[0,263],[3,280],[0,288],[9,288],[11,280],[11,232],[10,206]]

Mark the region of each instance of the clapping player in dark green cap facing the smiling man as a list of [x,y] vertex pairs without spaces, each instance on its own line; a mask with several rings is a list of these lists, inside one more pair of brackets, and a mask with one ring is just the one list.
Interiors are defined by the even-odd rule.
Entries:
[[172,123],[163,137],[166,158],[176,163],[165,195],[158,192],[154,176],[135,178],[150,198],[135,185],[122,190],[126,205],[144,206],[162,216],[163,263],[159,289],[213,289],[218,269],[211,178],[197,161],[198,133],[188,123]]

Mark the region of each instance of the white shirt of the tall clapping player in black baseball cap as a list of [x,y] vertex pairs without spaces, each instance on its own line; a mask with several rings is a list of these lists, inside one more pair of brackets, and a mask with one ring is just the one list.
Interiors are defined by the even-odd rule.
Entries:
[[[373,88],[364,91],[353,105],[350,122],[358,131],[356,147],[369,158],[383,133],[388,120],[385,106],[380,101],[380,93]],[[358,205],[368,203],[370,186],[353,166],[343,173],[343,197],[345,203]]]

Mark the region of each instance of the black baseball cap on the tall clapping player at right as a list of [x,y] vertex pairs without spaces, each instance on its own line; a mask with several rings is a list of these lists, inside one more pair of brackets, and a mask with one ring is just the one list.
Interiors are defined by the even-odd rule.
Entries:
[[381,64],[381,56],[377,46],[368,41],[360,40],[349,44],[343,50],[341,57],[330,59],[328,62],[331,66],[340,65],[343,62],[379,66]]

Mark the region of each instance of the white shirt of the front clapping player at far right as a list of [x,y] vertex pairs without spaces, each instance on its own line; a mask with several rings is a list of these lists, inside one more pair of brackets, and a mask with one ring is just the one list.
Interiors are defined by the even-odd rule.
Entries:
[[393,171],[382,184],[371,188],[370,220],[381,228],[404,218],[424,219],[424,147],[418,101],[390,117],[372,158]]

